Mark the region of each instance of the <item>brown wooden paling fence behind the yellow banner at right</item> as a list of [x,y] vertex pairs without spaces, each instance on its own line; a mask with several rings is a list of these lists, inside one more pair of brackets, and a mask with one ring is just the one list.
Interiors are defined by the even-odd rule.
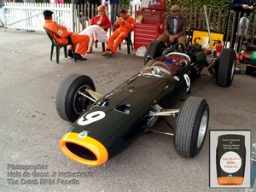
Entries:
[[[242,23],[241,26],[237,26],[235,30],[236,16],[238,16],[238,20],[241,19],[242,16],[246,17],[247,15],[236,15],[232,10],[227,11],[212,11],[211,9],[207,10],[207,19],[204,14],[203,9],[183,9],[183,15],[188,19],[188,33],[189,36],[192,36],[193,30],[201,30],[207,31],[207,19],[209,21],[209,26],[211,32],[218,32],[224,34],[224,45],[226,48],[229,47],[229,44],[232,43],[233,37],[236,37],[236,42],[239,40],[236,32],[241,32],[241,45],[244,38],[247,39],[248,43],[255,44],[256,41],[256,16],[253,18],[253,14],[251,14],[248,19],[248,28],[246,29],[246,24]],[[239,29],[240,27],[240,29]],[[247,36],[244,37],[244,31],[247,30]],[[236,31],[236,32],[235,32]],[[240,50],[241,52],[241,46]]]

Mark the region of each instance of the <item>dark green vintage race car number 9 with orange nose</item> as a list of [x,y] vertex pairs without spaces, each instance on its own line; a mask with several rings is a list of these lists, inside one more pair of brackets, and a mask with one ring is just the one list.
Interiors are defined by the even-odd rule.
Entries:
[[61,150],[86,166],[100,166],[152,130],[159,116],[172,116],[176,118],[172,135],[177,154],[193,158],[207,135],[207,101],[189,96],[181,108],[163,105],[175,106],[203,69],[216,77],[218,85],[229,86],[235,64],[233,49],[224,49],[216,59],[208,58],[200,44],[166,48],[154,40],[148,45],[143,69],[105,96],[96,93],[90,77],[70,75],[56,96],[61,119],[74,122],[61,138]]

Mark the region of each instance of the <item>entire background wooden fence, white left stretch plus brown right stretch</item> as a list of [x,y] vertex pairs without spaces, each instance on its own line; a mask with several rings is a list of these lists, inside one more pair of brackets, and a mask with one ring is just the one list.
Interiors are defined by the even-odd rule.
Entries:
[[[79,8],[72,3],[5,3],[5,16],[7,20],[8,28],[18,28],[24,30],[44,31],[44,15],[45,9],[52,10],[54,14],[54,20],[66,26],[68,30],[72,32],[81,32],[84,27],[90,24],[90,18],[88,15],[84,15],[84,25],[82,25],[81,18],[78,13],[81,9],[86,10],[87,13],[91,11],[91,17],[96,15],[96,8],[90,10],[88,4]],[[126,9],[135,19],[137,19],[137,9],[139,5],[125,6],[119,8],[108,7],[108,17],[111,19],[113,13],[116,13],[119,9]],[[168,13],[166,13],[168,15]],[[207,20],[203,9],[183,9],[182,15],[185,15],[188,19],[188,35],[191,37],[193,30],[207,30]],[[207,18],[209,20],[209,26],[212,32],[219,32],[224,34],[224,43],[226,47],[232,37],[236,36],[234,32],[234,23],[236,15],[228,10],[226,12],[216,12],[211,9],[207,10]],[[241,15],[239,15],[241,17]],[[233,27],[232,27],[233,26]],[[256,27],[256,17],[249,17],[249,28],[247,29],[247,38],[249,42],[254,44]],[[242,34],[245,26],[242,27]],[[109,30],[109,35],[112,30]],[[238,31],[238,30],[237,30]],[[242,38],[241,38],[242,39]]]

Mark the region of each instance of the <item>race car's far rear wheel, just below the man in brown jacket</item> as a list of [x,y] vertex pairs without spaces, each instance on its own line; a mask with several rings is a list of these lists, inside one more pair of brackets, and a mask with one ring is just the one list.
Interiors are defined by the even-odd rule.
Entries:
[[153,40],[148,44],[148,48],[144,55],[144,65],[148,63],[148,60],[160,57],[164,49],[166,49],[166,44],[163,41]]

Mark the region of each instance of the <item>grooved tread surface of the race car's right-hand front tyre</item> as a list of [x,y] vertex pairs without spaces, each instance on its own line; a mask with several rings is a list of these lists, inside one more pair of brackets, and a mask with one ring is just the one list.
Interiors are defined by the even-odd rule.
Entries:
[[189,96],[186,102],[184,102],[183,108],[178,113],[176,127],[178,127],[179,131],[176,132],[174,146],[177,154],[183,155],[184,157],[191,157],[189,152],[194,119],[197,113],[195,109],[200,107],[203,100],[204,99],[200,97]]

